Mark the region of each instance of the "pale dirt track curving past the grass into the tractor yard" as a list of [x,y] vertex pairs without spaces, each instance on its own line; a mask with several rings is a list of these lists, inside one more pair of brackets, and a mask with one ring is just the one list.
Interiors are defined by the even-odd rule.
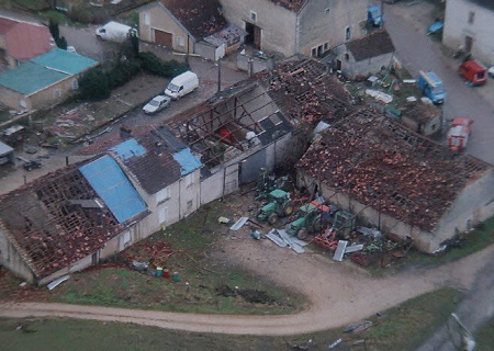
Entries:
[[296,335],[340,327],[440,286],[470,287],[475,272],[494,260],[494,246],[458,262],[377,279],[318,254],[297,256],[268,240],[226,240],[223,258],[310,296],[296,315],[220,316],[64,304],[3,304],[0,317],[70,317],[134,322],[169,329],[236,335]]

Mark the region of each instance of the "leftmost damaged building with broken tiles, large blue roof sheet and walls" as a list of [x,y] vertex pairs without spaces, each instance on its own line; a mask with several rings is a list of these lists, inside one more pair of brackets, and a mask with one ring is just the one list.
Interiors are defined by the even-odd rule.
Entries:
[[147,214],[111,157],[74,165],[0,199],[0,263],[46,284],[138,240]]

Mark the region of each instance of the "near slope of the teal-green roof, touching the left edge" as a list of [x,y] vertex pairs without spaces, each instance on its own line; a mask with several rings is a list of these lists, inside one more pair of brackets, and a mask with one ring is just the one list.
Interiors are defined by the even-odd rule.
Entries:
[[26,61],[14,69],[1,73],[0,86],[29,95],[67,77],[70,77],[70,75]]

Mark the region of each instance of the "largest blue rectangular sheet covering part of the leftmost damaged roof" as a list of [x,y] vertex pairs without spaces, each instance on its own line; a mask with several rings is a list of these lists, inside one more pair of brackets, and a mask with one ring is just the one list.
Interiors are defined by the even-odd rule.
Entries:
[[79,170],[120,223],[146,210],[144,200],[110,156],[103,156]]

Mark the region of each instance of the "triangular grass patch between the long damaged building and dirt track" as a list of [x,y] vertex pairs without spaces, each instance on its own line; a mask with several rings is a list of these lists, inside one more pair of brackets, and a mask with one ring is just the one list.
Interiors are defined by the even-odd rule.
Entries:
[[[222,230],[227,228],[217,223],[224,211],[222,202],[203,206],[186,220],[144,240],[145,247],[164,241],[171,245],[177,253],[161,263],[170,272],[178,272],[180,282],[130,270],[119,254],[105,262],[106,267],[72,274],[53,292],[30,287],[34,291],[19,295],[20,281],[1,278],[0,298],[18,294],[18,298],[31,301],[207,314],[272,315],[303,309],[306,297],[211,258],[213,250],[220,249],[216,246]],[[147,260],[143,250],[137,244],[124,253]]]

